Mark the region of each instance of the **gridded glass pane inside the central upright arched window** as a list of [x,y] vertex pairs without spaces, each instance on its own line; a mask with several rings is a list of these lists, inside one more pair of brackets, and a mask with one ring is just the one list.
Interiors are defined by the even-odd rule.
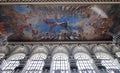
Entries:
[[65,59],[64,56],[56,56],[52,60],[52,73],[68,73],[69,71],[69,61]]

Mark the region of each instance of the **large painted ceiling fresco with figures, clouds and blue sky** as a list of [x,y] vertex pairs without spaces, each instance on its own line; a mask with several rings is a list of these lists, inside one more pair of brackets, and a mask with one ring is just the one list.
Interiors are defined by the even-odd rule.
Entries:
[[9,41],[111,40],[119,12],[119,5],[1,5],[0,34],[13,33]]

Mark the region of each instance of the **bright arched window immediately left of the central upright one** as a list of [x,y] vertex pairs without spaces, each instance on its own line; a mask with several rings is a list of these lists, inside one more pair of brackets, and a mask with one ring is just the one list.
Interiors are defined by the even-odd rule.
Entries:
[[42,73],[42,69],[45,64],[44,60],[46,58],[47,58],[47,55],[44,53],[34,54],[27,61],[27,64],[23,70],[23,73]]

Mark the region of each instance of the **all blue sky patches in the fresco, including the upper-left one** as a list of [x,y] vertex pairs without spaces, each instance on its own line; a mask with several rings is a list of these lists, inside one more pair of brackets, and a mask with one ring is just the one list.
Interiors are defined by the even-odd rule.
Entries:
[[[15,9],[23,14],[28,14],[30,11],[32,11],[32,9],[30,7],[27,7],[24,5],[17,5],[17,6],[15,6]],[[43,9],[44,9],[44,7],[43,7]],[[67,22],[68,26],[71,28],[71,30],[78,29],[78,27],[77,27],[78,19],[79,19],[78,15],[62,16],[59,19],[57,19],[57,21],[55,18],[46,18],[46,20],[49,22],[58,22],[58,23]],[[34,22],[32,22],[31,24],[34,24]],[[49,28],[50,28],[50,26],[44,22],[37,22],[37,24],[35,23],[35,25],[33,25],[32,27],[34,29],[39,29],[39,33],[49,32]],[[25,28],[25,30],[26,30],[26,28]],[[60,32],[61,30],[65,30],[65,29],[62,28],[61,26],[57,25],[50,32],[57,33],[57,32]]]

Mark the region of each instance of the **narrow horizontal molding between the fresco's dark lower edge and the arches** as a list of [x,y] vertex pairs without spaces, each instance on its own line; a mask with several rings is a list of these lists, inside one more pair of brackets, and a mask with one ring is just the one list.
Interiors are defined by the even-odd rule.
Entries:
[[[27,45],[27,44],[38,44],[38,45],[45,45],[45,44],[112,44],[112,41],[44,41],[44,42],[9,42],[9,44],[15,45]],[[119,43],[118,43],[119,44]]]

